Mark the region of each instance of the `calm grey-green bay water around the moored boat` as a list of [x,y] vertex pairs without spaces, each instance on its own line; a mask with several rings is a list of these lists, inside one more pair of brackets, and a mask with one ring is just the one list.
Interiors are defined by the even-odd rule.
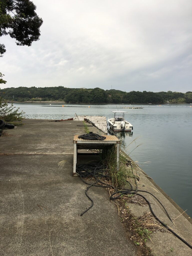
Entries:
[[[77,115],[113,116],[123,105],[15,104],[27,118],[66,119]],[[82,107],[80,107],[82,106]],[[189,105],[143,105],[127,111],[125,119],[133,124],[133,134],[123,138],[127,152],[154,181],[192,217],[192,107]],[[135,148],[137,145],[142,144]],[[134,149],[135,148],[135,149]],[[150,162],[150,163],[146,163]]]

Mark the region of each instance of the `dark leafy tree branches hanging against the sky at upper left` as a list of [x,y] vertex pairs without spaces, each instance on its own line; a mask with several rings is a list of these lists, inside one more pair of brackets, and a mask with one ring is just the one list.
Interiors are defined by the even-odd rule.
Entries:
[[[27,46],[39,40],[43,20],[35,10],[36,6],[29,0],[0,0],[0,37],[10,35],[17,45]],[[5,45],[0,44],[0,57],[5,52]],[[1,78],[0,83],[6,83],[3,81]]]

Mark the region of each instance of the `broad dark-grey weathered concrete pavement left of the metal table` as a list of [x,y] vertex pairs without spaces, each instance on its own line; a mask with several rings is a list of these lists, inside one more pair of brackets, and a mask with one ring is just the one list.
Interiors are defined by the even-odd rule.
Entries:
[[72,177],[82,122],[24,123],[0,137],[0,255],[137,255],[106,190],[91,188],[94,206],[79,216],[90,205],[87,185]]

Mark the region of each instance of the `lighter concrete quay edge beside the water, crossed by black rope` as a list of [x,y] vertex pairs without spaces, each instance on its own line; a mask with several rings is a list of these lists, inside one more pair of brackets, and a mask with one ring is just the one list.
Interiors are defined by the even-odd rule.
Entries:
[[[158,186],[152,184],[150,180],[143,173],[140,174],[140,182],[138,183],[138,189],[146,190],[153,195],[155,195],[167,209],[170,217],[175,219],[180,215],[179,210],[173,205],[161,191],[159,191]],[[143,187],[145,185],[145,187]],[[151,202],[151,207],[156,214],[156,216],[167,224],[172,230],[174,230],[180,237],[185,239],[188,243],[192,244],[192,225],[186,217],[183,215],[179,216],[173,223],[167,217],[163,207],[157,202],[157,200],[150,194],[139,192],[144,195],[148,201]],[[129,204],[130,211],[136,216],[140,217],[144,212],[150,212],[148,205],[139,206],[135,204]],[[165,256],[165,255],[174,255],[174,256],[188,256],[192,255],[192,250],[179,240],[172,233],[166,232],[162,233],[157,231],[151,234],[151,240],[147,240],[147,246],[152,249],[152,253],[155,256]],[[173,248],[173,251],[171,251]]]

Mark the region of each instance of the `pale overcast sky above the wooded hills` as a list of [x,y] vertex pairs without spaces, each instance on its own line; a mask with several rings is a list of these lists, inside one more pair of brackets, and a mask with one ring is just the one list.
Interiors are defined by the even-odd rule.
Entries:
[[30,47],[1,37],[7,87],[192,91],[191,0],[33,0]]

